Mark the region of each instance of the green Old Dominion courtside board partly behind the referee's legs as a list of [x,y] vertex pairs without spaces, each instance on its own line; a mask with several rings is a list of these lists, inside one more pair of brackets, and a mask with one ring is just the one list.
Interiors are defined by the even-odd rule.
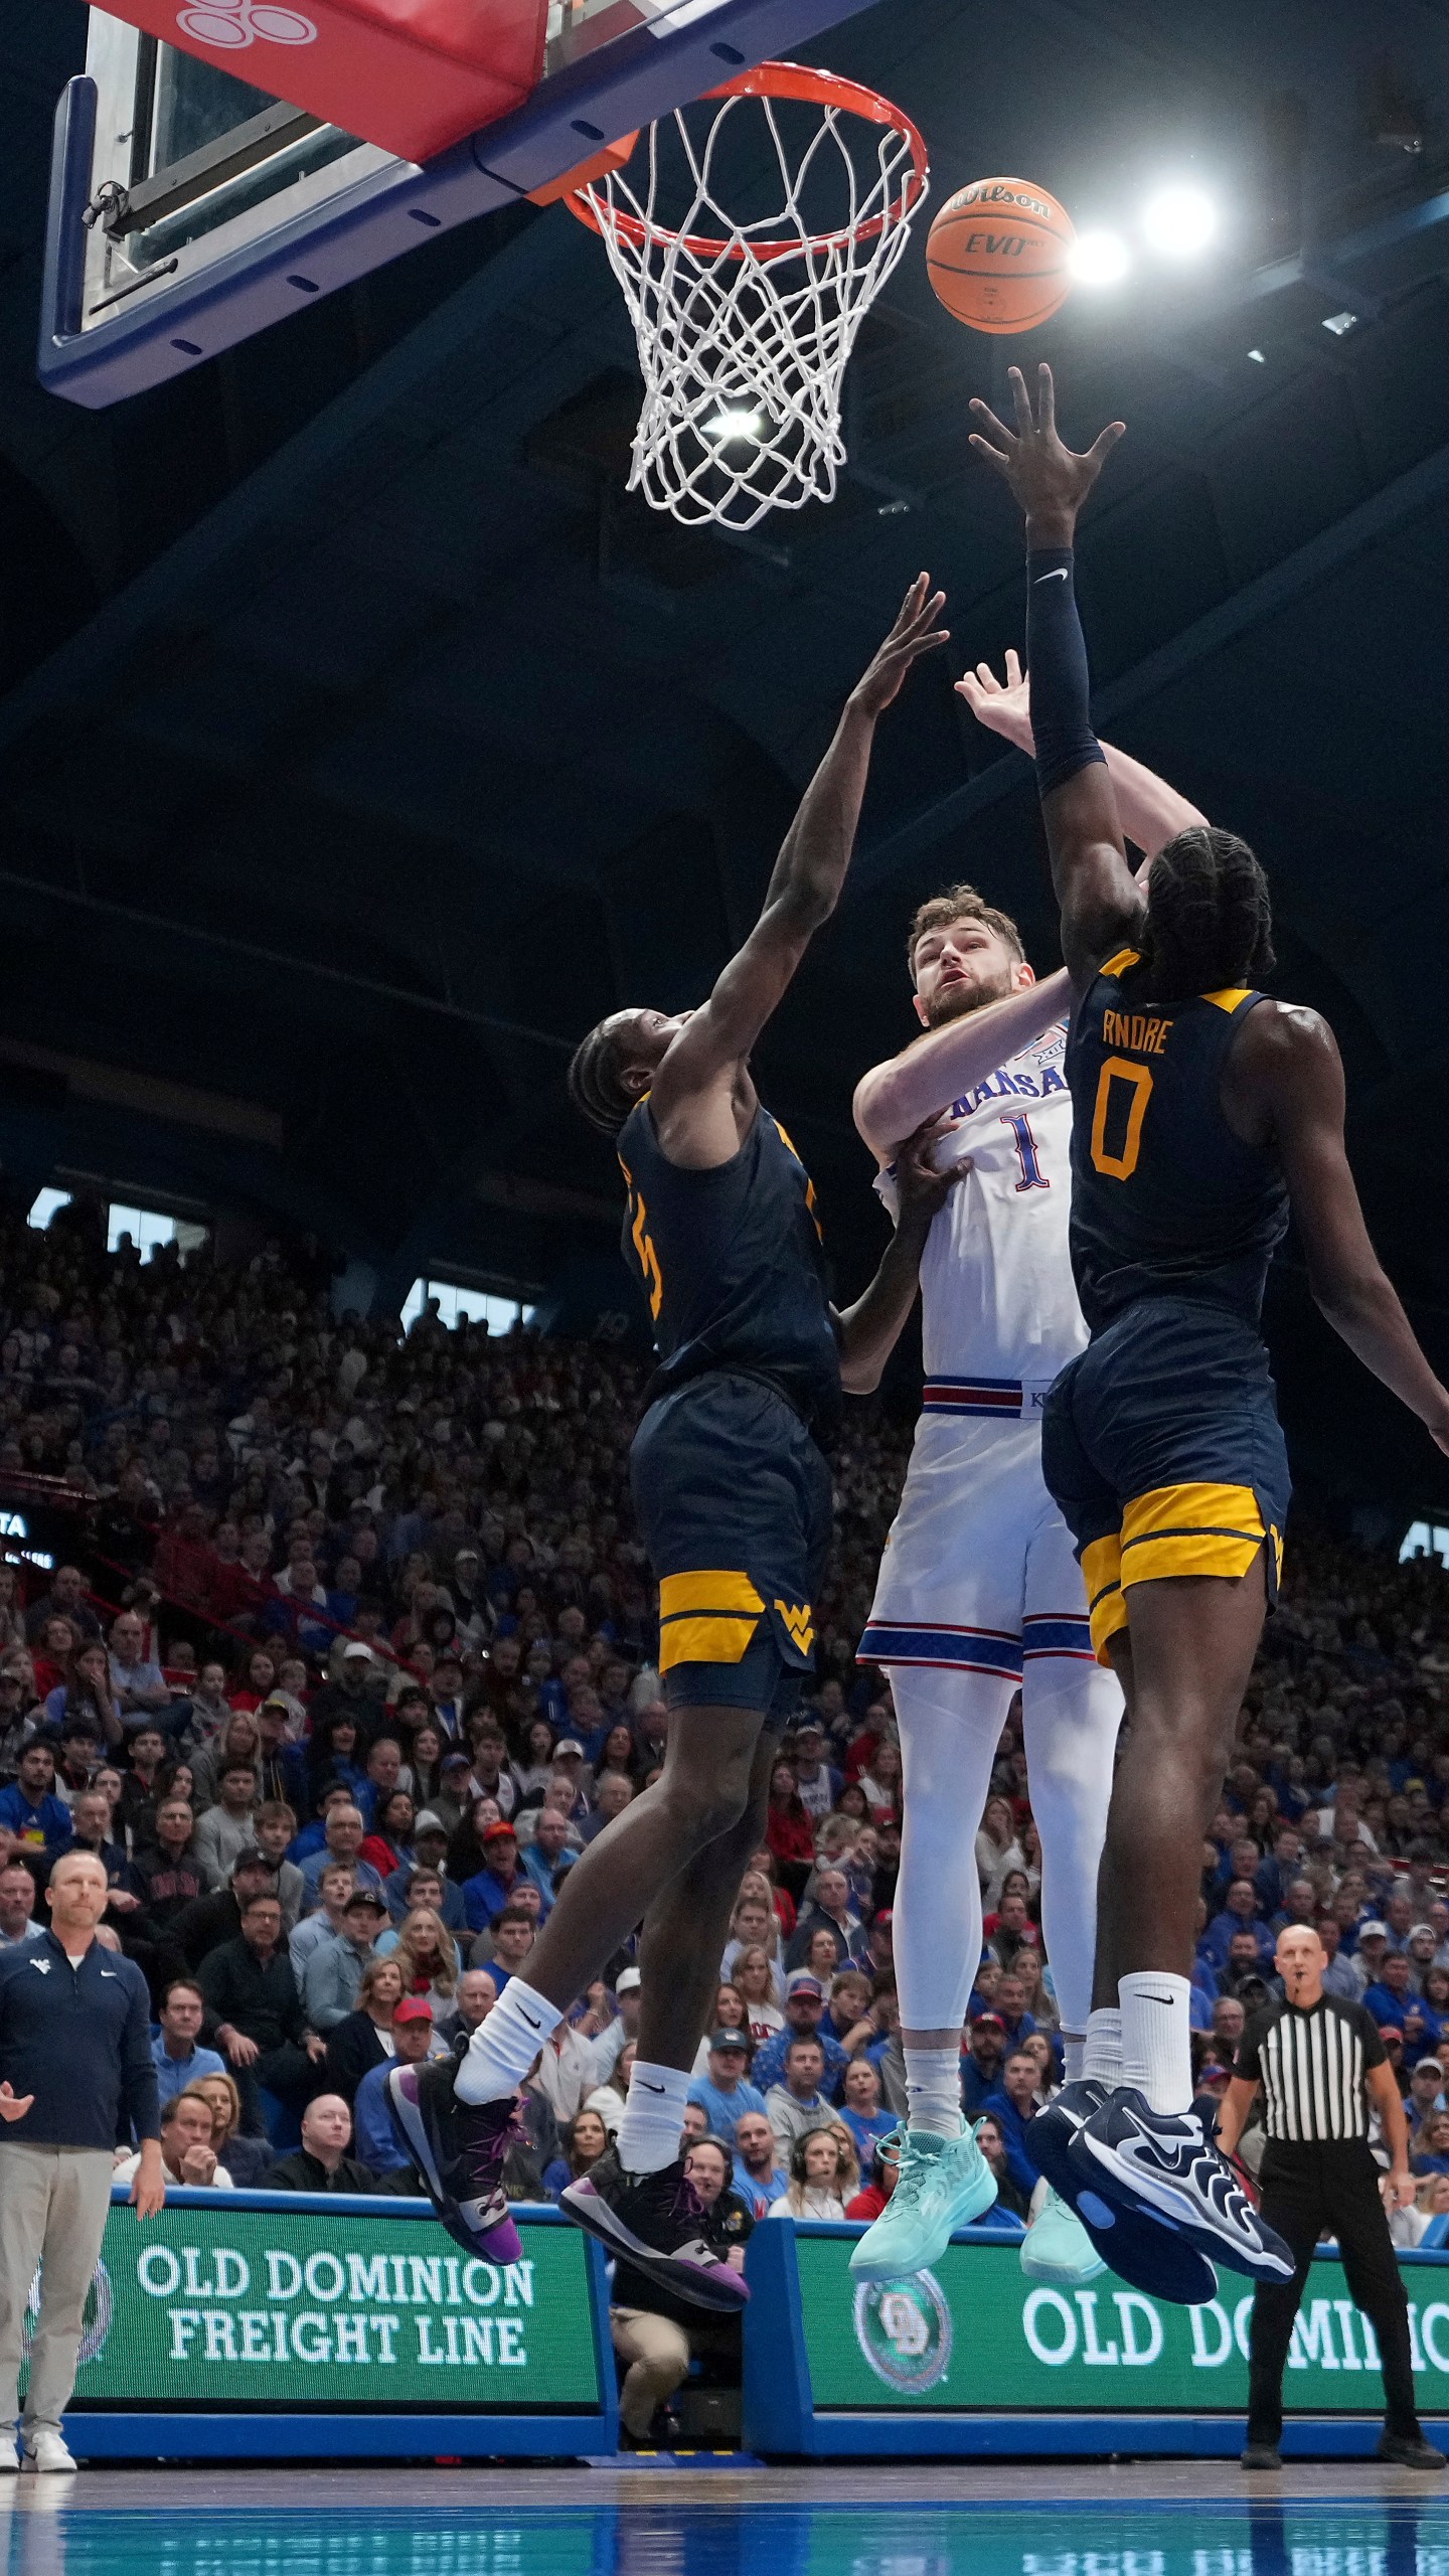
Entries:
[[[761,2239],[794,2236],[789,2257]],[[1018,2239],[957,2241],[913,2280],[853,2282],[856,2231],[758,2228],[750,2344],[776,2295],[794,2306],[794,2360],[815,2421],[828,2416],[1243,2416],[1250,2282],[1220,2272],[1204,2308],[1173,2308],[1098,2275],[1083,2290],[1029,2282]],[[1421,2409],[1449,2409],[1449,2267],[1405,2267]],[[779,2344],[776,2344],[779,2352]],[[786,2375],[773,2372],[784,2398]],[[758,2393],[758,2383],[755,2383]],[[1315,2262],[1284,2375],[1289,2414],[1382,2416],[1374,2331],[1338,2262]],[[755,2447],[766,2442],[750,2409]],[[799,2432],[799,2427],[797,2427]],[[908,2447],[908,2442],[902,2445]],[[1047,2445],[1049,2447],[1049,2445]]]

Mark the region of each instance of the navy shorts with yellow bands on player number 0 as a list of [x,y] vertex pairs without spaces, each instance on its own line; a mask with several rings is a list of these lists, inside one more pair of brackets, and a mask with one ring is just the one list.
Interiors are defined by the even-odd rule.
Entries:
[[1088,1589],[1091,1641],[1132,1625],[1134,1584],[1243,1577],[1279,1597],[1289,1458],[1263,1337],[1191,1298],[1137,1298],[1070,1360],[1042,1417],[1042,1473]]

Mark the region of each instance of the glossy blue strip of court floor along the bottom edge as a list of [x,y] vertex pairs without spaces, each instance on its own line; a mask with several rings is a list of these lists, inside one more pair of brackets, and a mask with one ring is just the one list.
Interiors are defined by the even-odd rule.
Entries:
[[[1031,2470],[1026,2481],[1031,2481]],[[0,2509],[5,2576],[1449,2576],[1449,2496],[1073,2504],[657,2501]],[[665,2481],[660,2481],[663,2486]],[[964,2481],[969,2483],[969,2470]],[[49,2499],[46,2499],[49,2504]]]

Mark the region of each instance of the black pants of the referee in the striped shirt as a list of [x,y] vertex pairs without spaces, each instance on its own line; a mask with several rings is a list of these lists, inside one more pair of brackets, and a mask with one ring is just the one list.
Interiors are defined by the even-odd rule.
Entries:
[[1248,2439],[1276,2445],[1284,2429],[1284,2365],[1312,2249],[1325,2228],[1338,2239],[1354,2306],[1364,2311],[1379,2344],[1385,2427],[1395,2434],[1418,2432],[1408,2298],[1379,2200],[1379,2166],[1366,2143],[1269,2143],[1261,2187],[1258,2215],[1287,2239],[1297,2269],[1292,2280],[1258,2282],[1253,2293]]

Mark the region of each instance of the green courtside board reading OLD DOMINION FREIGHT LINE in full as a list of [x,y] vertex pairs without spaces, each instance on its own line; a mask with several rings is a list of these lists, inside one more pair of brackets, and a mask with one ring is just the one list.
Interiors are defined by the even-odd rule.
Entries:
[[75,2409],[529,2424],[608,2411],[598,2269],[578,2228],[523,2221],[521,2259],[490,2264],[418,2205],[235,2197],[178,2195],[144,2226],[111,2205]]

